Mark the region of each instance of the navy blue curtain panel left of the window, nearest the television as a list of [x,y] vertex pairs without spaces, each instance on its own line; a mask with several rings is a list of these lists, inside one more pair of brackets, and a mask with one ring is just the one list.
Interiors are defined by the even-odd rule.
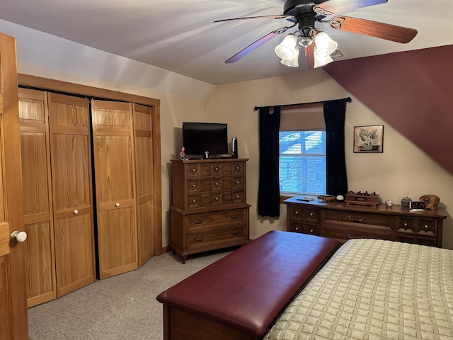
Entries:
[[280,216],[280,183],[278,159],[280,156],[278,132],[280,106],[260,108],[260,179],[258,186],[258,214]]

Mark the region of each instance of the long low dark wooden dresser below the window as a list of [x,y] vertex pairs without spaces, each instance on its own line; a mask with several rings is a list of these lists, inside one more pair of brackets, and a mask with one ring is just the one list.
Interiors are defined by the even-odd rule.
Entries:
[[442,246],[443,209],[411,212],[401,205],[353,205],[295,196],[285,200],[287,231],[348,239],[374,238]]

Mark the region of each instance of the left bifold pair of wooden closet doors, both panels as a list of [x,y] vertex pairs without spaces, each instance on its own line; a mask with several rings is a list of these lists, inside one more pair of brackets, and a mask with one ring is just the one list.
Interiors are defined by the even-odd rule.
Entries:
[[19,89],[28,307],[96,279],[89,105]]

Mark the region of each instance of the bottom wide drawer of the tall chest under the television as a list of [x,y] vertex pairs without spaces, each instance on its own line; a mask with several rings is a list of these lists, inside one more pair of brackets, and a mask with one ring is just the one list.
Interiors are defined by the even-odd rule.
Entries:
[[188,232],[187,249],[188,251],[196,248],[209,248],[218,243],[226,245],[228,242],[243,242],[246,239],[244,232],[245,225],[231,226],[224,228],[206,229],[202,232]]

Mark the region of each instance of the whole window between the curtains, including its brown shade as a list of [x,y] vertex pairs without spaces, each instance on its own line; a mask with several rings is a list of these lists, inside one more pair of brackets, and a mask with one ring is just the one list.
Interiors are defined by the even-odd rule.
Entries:
[[282,110],[280,193],[326,193],[326,123],[322,105]]

